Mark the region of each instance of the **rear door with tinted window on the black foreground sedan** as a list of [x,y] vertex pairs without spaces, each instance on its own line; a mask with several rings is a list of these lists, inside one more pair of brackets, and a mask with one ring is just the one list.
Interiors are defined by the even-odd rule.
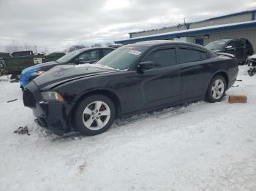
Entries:
[[211,76],[208,52],[196,47],[179,46],[178,56],[181,63],[181,100],[204,95]]

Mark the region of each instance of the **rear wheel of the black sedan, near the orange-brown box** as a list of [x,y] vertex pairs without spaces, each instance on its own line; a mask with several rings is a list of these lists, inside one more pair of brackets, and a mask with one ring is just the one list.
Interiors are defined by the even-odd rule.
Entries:
[[226,80],[221,75],[217,75],[211,79],[206,93],[206,101],[214,103],[221,101],[227,89]]

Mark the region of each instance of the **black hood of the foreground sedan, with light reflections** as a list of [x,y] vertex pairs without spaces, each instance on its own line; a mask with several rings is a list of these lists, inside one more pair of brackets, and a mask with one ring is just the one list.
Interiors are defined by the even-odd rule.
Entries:
[[117,71],[115,69],[97,66],[96,64],[56,66],[33,81],[39,88],[47,87],[48,85],[55,87],[56,85],[75,79]]

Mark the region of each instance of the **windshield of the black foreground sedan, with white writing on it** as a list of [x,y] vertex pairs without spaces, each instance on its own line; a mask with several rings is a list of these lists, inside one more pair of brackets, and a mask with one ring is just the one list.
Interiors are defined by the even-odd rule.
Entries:
[[97,64],[119,70],[129,69],[129,66],[135,63],[147,49],[148,47],[138,46],[119,47],[99,60]]

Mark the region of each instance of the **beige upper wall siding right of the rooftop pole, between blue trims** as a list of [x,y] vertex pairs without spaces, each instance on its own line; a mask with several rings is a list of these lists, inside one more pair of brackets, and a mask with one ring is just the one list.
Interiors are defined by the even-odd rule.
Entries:
[[229,23],[239,23],[239,22],[244,22],[249,20],[252,20],[252,13],[224,17],[224,18],[219,18],[214,20],[207,20],[200,23],[191,23],[190,28],[200,28],[204,26],[217,26],[217,25],[229,24]]

